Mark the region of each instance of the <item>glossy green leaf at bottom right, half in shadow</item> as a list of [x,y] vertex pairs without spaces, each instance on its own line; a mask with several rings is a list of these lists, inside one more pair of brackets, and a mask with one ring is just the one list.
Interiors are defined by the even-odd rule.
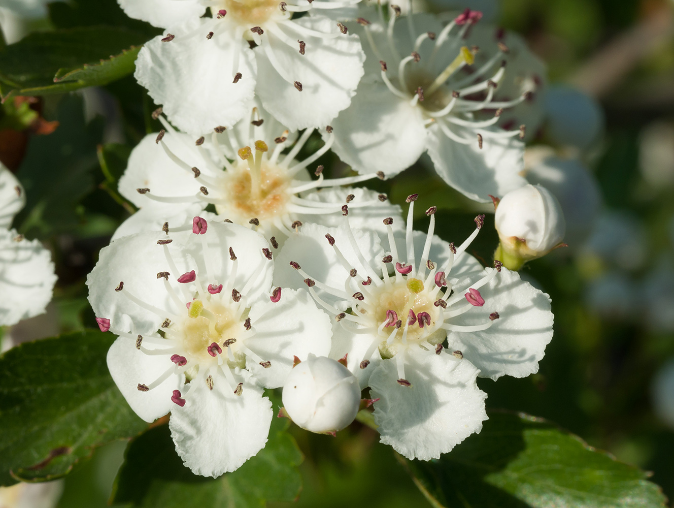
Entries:
[[665,507],[646,472],[524,414],[491,413],[439,460],[399,458],[435,507]]

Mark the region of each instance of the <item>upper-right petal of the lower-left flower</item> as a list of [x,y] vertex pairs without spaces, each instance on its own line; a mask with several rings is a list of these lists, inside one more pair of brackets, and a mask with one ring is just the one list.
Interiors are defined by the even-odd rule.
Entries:
[[238,224],[210,221],[202,240],[206,241],[206,250],[204,242],[193,242],[188,248],[197,262],[200,277],[208,273],[213,279],[209,283],[213,284],[228,280],[232,264],[231,247],[237,256],[237,275],[230,283],[231,287],[243,294],[248,305],[257,298],[267,298],[274,262],[262,252],[262,249],[271,249],[271,246],[261,233]]

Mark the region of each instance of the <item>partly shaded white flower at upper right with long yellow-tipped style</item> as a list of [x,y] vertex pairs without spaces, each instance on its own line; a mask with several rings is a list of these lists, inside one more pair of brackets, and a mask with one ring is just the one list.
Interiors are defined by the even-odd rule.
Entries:
[[360,16],[365,76],[331,123],[334,152],[360,173],[393,176],[428,151],[450,186],[483,202],[526,184],[514,138],[541,121],[545,68],[524,41],[478,22],[479,11],[446,26],[428,13],[385,22],[381,7]]

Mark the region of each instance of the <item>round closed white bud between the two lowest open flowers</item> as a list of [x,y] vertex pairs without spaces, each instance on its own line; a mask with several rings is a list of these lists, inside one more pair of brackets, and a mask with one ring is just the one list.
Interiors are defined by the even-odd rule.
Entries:
[[340,362],[309,355],[290,371],[283,406],[301,428],[327,433],[353,422],[361,403],[357,378]]

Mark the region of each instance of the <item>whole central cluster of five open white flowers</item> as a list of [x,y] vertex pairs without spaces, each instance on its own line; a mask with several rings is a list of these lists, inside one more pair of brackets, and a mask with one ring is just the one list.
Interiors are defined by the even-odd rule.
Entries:
[[[404,220],[357,185],[428,152],[468,198],[518,192],[543,64],[470,9],[119,3],[165,28],[136,62],[163,126],[119,181],[138,211],[87,281],[100,329],[118,337],[108,366],[133,410],[148,422],[170,412],[177,452],[204,476],[264,447],[265,389],[282,387],[279,415],[312,432],[334,434],[372,406],[381,441],[408,458],[479,432],[477,378],[537,372],[550,300],[468,254],[483,215],[455,245],[434,234],[435,206],[427,233],[412,228],[417,194]],[[330,150],[355,173],[326,177]],[[520,201],[505,196],[499,210]],[[508,213],[504,234],[519,234],[526,211]],[[559,243],[563,231],[537,234]]]

